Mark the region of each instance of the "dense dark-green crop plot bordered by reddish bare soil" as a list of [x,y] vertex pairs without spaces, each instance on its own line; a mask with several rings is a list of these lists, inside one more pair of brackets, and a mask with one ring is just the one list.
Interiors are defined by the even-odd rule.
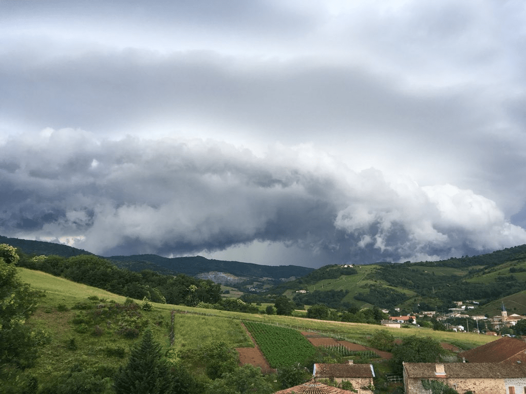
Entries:
[[302,364],[316,352],[297,330],[256,322],[244,324],[272,368]]

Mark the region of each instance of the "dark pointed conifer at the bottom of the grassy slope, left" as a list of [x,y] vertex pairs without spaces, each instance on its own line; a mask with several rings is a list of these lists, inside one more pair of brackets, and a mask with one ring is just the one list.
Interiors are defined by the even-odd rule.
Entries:
[[128,364],[120,367],[114,381],[117,394],[161,394],[171,392],[175,379],[161,353],[161,346],[147,329],[131,350]]

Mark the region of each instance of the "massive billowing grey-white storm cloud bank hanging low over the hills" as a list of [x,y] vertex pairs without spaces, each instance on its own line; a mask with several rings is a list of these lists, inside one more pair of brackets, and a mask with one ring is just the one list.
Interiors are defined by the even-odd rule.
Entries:
[[[66,129],[2,150],[3,162],[17,164],[0,171],[9,186],[0,196],[2,233],[76,240],[100,254],[181,255],[269,241],[323,263],[373,262],[526,242],[483,196],[397,183],[372,169],[342,173],[312,149],[258,158],[220,142],[96,142]],[[305,165],[302,154],[318,161]]]

